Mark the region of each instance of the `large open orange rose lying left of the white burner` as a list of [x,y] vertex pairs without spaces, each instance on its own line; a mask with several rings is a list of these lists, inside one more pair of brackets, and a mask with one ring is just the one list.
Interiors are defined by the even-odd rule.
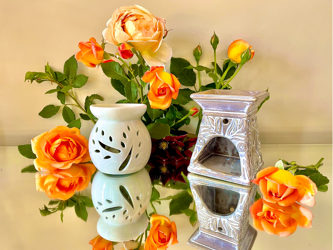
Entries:
[[55,127],[32,139],[31,147],[38,171],[68,169],[74,163],[90,161],[88,140],[75,127]]

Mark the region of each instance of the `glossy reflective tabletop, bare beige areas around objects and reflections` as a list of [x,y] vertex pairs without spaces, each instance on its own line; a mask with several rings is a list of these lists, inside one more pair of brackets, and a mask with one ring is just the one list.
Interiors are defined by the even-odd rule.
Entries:
[[[262,145],[264,166],[274,166],[281,159],[296,161],[300,165],[315,164],[324,157],[321,173],[333,180],[333,144],[327,145]],[[85,250],[91,249],[89,240],[97,235],[96,224],[99,219],[94,208],[87,208],[88,221],[84,222],[75,215],[74,207],[64,210],[64,223],[60,212],[42,217],[38,208],[49,202],[45,193],[36,191],[35,175],[21,174],[20,170],[32,163],[22,157],[16,147],[0,147],[0,249],[2,250]],[[314,218],[312,228],[297,228],[287,238],[258,232],[253,250],[329,250],[333,249],[333,186],[328,184],[326,193],[318,192],[316,205],[310,210]],[[81,192],[90,197],[90,188]],[[179,191],[157,189],[161,198]],[[156,204],[159,214],[168,216],[168,202]],[[149,207],[149,212],[151,208]],[[170,250],[190,250],[187,239],[195,228],[182,215],[169,217],[175,221],[178,231],[176,245]],[[250,220],[251,223],[251,220]],[[121,244],[116,245],[116,249]]]

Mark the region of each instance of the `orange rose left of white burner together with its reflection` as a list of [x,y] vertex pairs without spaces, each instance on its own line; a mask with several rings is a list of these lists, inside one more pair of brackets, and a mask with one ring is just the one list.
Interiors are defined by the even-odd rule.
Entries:
[[[77,128],[58,126],[31,140],[36,154],[36,189],[50,199],[68,200],[89,185],[96,168],[90,161],[88,140]],[[85,163],[85,164],[83,164]]]

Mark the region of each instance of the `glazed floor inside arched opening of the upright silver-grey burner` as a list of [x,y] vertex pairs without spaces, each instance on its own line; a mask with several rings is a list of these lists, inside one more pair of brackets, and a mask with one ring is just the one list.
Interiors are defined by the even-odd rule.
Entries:
[[210,154],[200,162],[203,166],[220,173],[240,176],[241,165],[239,157]]

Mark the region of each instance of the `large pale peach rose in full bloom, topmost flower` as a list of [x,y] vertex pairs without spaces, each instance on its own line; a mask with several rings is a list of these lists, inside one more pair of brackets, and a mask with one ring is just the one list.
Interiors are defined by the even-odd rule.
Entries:
[[149,66],[163,66],[172,56],[171,47],[163,41],[165,22],[139,5],[123,6],[112,14],[103,37],[115,45],[129,42]]

